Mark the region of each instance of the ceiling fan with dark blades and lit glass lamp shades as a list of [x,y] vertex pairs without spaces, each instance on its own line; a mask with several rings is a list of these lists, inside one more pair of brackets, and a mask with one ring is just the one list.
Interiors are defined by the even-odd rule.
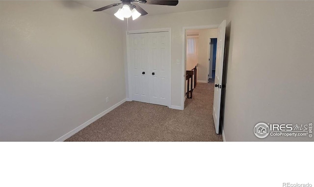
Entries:
[[94,12],[99,12],[106,10],[108,8],[112,8],[122,4],[122,7],[114,14],[120,20],[124,20],[124,18],[130,18],[132,16],[132,20],[137,19],[138,17],[145,16],[148,14],[142,7],[135,3],[142,4],[156,4],[156,5],[169,5],[176,6],[179,3],[179,0],[121,0],[122,2],[109,4],[102,8],[98,8],[93,10]]

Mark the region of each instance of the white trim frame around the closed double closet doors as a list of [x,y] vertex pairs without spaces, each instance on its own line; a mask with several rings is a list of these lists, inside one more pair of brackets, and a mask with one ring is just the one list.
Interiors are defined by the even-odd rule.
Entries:
[[[126,31],[126,40],[127,40],[127,66],[128,66],[128,75],[126,77],[128,78],[128,85],[129,89],[126,90],[127,95],[129,98],[127,101],[133,101],[132,100],[132,82],[131,82],[131,62],[130,62],[130,44],[129,44],[129,34],[137,34],[137,33],[150,33],[150,32],[169,32],[169,103],[168,107],[171,107],[171,28],[152,28],[152,29],[141,29],[141,30],[129,30]],[[127,83],[127,82],[126,82]]]

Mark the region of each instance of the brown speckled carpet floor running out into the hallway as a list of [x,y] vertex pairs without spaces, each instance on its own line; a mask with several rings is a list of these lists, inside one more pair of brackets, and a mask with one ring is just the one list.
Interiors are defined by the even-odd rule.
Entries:
[[198,83],[184,110],[126,102],[66,141],[222,141],[213,124],[213,88]]

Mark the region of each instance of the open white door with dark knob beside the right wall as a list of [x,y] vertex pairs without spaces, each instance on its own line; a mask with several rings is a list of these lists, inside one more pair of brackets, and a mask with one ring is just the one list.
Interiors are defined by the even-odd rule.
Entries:
[[216,134],[219,134],[220,102],[222,88],[222,72],[223,72],[222,70],[224,66],[225,38],[226,38],[226,20],[224,20],[218,27],[217,38],[214,105],[212,109]]

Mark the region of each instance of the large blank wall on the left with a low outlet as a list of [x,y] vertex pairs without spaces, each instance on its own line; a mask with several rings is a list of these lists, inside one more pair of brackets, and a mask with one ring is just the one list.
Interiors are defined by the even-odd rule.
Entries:
[[0,141],[56,140],[126,98],[113,16],[71,1],[0,1],[0,26]]

